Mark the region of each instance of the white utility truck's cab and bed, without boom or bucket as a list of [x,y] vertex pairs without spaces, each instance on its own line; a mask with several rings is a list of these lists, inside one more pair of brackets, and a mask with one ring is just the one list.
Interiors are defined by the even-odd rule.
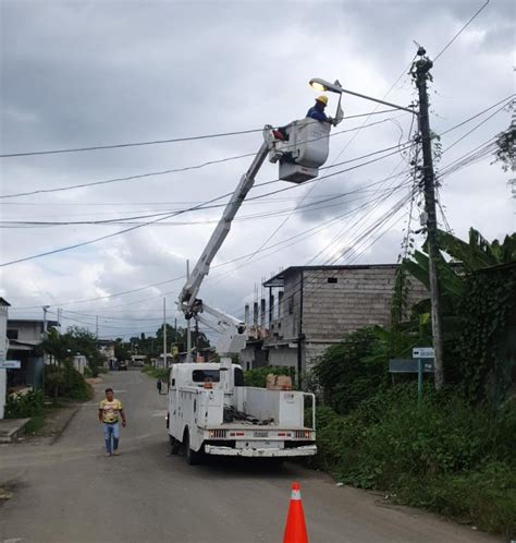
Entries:
[[[285,458],[317,452],[314,395],[243,385],[237,364],[173,364],[168,418],[172,454],[183,451],[194,464],[202,454]],[[306,407],[311,407],[307,422]]]

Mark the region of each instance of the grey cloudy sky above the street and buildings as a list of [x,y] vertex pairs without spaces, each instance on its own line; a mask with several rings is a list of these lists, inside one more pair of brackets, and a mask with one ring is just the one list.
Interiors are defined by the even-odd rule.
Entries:
[[[438,57],[484,3],[0,0],[0,154],[247,132],[0,158],[2,264],[138,227],[2,266],[10,316],[40,317],[50,305],[53,318],[62,309],[65,326],[94,330],[98,316],[100,337],[153,333],[163,297],[176,316],[186,261],[194,266],[222,207],[173,214],[231,193],[263,124],[305,116],[317,96],[307,84],[314,76],[410,104],[414,40]],[[459,161],[511,122],[503,106],[514,93],[515,5],[491,0],[432,70],[430,122],[445,132],[440,202],[460,237],[470,226],[490,240],[515,230],[509,174],[490,156]],[[329,97],[333,113],[336,95]],[[349,119],[333,129],[320,180],[277,181],[277,166],[265,164],[257,184],[277,182],[249,193],[202,299],[242,316],[257,286],[281,268],[396,262],[410,214],[413,155],[400,150],[414,135],[411,116],[378,113],[389,108],[354,97],[343,104]],[[91,185],[127,177],[137,178]],[[418,196],[413,230],[419,206]],[[91,224],[101,220],[111,222]]]

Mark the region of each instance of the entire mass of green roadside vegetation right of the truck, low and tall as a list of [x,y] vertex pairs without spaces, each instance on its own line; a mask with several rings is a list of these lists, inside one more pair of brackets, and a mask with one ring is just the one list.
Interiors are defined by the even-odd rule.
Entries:
[[400,272],[392,326],[349,334],[316,365],[322,406],[309,462],[395,503],[514,538],[516,234],[489,243],[475,230],[468,242],[440,232],[440,246],[446,385],[435,390],[427,375],[418,401],[415,374],[389,373],[390,359],[431,345],[429,301],[404,301],[407,275],[428,277],[428,256],[416,252]]

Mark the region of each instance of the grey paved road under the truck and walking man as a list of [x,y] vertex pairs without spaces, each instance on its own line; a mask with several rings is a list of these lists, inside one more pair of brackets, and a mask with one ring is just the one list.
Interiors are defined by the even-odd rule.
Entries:
[[167,396],[157,395],[153,381],[128,371],[107,383],[126,407],[122,455],[103,456],[96,401],[83,406],[51,446],[1,447],[0,482],[14,483],[14,497],[0,506],[0,542],[279,543],[293,481],[302,484],[310,543],[500,541],[382,505],[291,463],[189,467],[167,456]]

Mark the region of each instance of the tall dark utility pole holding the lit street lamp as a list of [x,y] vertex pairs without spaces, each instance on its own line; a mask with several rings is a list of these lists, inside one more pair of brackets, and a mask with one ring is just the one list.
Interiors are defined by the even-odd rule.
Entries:
[[427,80],[433,62],[426,56],[423,47],[419,47],[416,61],[416,86],[419,92],[419,132],[421,134],[422,162],[423,162],[423,184],[425,184],[425,212],[427,220],[428,237],[428,262],[429,262],[429,282],[430,282],[430,302],[432,315],[432,338],[434,359],[434,383],[439,390],[444,385],[443,371],[443,342],[442,342],[442,322],[441,322],[441,297],[439,292],[439,270],[438,257],[439,250],[437,245],[438,220],[435,213],[435,176],[433,172],[432,158],[432,136],[430,132],[430,119],[428,114],[428,89]]

